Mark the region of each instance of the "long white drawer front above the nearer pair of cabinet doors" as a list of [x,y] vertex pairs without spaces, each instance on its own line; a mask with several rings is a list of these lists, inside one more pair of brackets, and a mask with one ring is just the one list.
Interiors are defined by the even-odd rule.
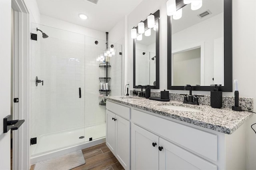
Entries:
[[213,161],[217,161],[217,135],[175,123],[148,113],[132,109],[132,122],[188,148]]

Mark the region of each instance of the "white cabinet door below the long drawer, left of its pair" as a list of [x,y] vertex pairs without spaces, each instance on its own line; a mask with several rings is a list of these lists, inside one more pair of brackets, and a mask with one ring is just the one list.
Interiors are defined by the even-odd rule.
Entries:
[[158,170],[158,136],[134,124],[131,131],[131,170]]

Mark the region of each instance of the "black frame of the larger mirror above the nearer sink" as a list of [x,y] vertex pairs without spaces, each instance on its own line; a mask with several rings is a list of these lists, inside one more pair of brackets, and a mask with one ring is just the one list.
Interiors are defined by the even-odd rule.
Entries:
[[[178,2],[178,3],[177,3]],[[185,6],[182,0],[176,0],[177,10]],[[167,89],[183,90],[184,86],[172,86],[172,22],[167,17]],[[232,0],[224,0],[224,86],[221,91],[232,92]],[[213,86],[192,86],[196,91],[213,91]]]

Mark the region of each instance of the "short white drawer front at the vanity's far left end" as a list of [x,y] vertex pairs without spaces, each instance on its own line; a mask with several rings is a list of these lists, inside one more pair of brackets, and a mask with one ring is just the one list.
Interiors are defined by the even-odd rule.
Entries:
[[125,107],[123,105],[118,105],[116,103],[113,103],[113,102],[110,102],[107,100],[106,109],[108,109],[109,111],[112,111],[116,115],[119,115],[125,119],[130,120],[130,108],[129,107]]

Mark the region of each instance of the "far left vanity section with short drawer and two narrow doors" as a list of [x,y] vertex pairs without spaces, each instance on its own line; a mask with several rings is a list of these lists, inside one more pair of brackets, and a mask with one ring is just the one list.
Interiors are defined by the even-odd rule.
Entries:
[[130,108],[109,103],[108,101],[106,108],[106,145],[116,156],[120,164],[126,170],[129,170]]

